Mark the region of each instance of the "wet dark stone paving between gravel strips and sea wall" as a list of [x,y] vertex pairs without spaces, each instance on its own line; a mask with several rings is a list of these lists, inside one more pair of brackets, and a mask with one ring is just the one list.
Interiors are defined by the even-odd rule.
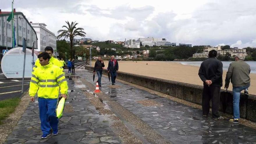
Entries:
[[[79,74],[92,84],[92,72]],[[97,81],[97,75],[95,75]],[[119,88],[102,77],[100,90],[141,118],[164,138],[173,143],[256,143],[256,130],[227,120],[202,117],[202,111],[145,90],[116,81]],[[138,101],[154,100],[161,106],[143,106]]]

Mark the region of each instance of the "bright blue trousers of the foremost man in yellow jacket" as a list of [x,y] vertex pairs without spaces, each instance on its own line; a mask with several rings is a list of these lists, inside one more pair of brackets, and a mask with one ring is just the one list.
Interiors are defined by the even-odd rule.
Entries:
[[39,116],[43,134],[49,134],[51,128],[58,131],[58,118],[56,117],[57,99],[45,99],[38,97]]

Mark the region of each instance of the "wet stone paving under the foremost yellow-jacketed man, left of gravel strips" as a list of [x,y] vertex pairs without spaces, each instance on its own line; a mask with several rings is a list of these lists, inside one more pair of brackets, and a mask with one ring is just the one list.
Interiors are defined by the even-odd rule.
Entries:
[[99,112],[83,95],[80,90],[81,85],[75,86],[71,77],[67,77],[67,80],[69,98],[65,107],[69,108],[69,112],[64,112],[59,121],[59,134],[41,139],[38,101],[35,101],[29,103],[6,143],[120,143],[104,115],[99,115]]

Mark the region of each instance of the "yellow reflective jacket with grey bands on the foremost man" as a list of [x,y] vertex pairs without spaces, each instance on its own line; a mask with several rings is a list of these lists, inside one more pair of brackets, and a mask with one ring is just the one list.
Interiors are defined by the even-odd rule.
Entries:
[[[61,90],[60,90],[61,89]],[[56,99],[61,94],[67,94],[68,86],[60,67],[49,63],[35,69],[32,74],[29,88],[29,95]]]

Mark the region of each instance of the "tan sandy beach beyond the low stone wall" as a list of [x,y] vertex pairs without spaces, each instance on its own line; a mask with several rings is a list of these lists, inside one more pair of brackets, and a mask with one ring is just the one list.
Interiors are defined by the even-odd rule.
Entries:
[[[139,74],[148,77],[156,77],[172,81],[180,81],[202,86],[202,81],[198,76],[199,67],[191,65],[182,65],[165,61],[118,61],[119,71],[132,74]],[[148,65],[147,65],[148,64]],[[107,66],[106,66],[107,67]],[[105,67],[105,68],[106,68]],[[223,70],[223,87],[225,85],[226,70]],[[250,74],[251,86],[249,93],[256,95],[256,74]],[[232,83],[228,90],[232,90]]]

